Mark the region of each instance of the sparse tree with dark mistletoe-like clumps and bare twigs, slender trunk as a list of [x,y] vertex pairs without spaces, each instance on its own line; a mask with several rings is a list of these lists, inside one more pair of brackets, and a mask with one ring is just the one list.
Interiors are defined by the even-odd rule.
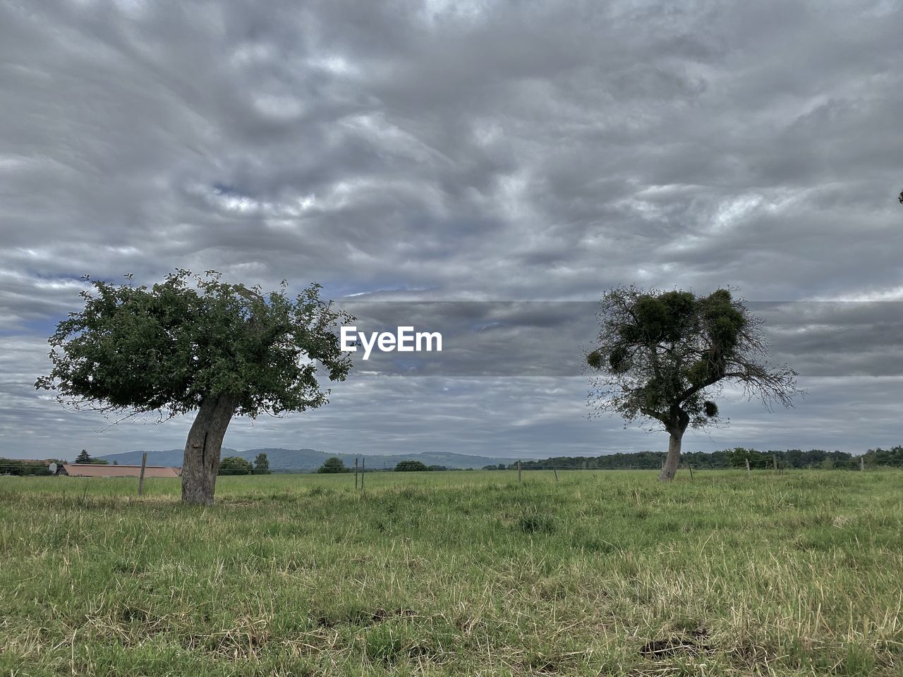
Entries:
[[763,321],[727,289],[696,296],[616,287],[602,296],[599,318],[599,345],[586,359],[602,376],[591,380],[590,405],[668,432],[663,481],[675,477],[684,431],[718,421],[712,398],[724,382],[769,408],[802,394],[793,369],[768,366]]

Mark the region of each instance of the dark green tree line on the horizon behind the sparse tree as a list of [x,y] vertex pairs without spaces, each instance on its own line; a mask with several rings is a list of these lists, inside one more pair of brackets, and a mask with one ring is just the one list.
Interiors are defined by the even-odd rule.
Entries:
[[[638,451],[629,454],[606,454],[604,456],[556,456],[549,459],[525,460],[521,462],[524,470],[558,469],[590,469],[616,470],[630,468],[661,468],[666,458],[664,451]],[[749,468],[772,468],[777,459],[780,468],[839,468],[856,469],[862,459],[867,467],[903,467],[903,446],[889,450],[870,449],[865,454],[853,456],[846,451],[825,451],[813,449],[808,451],[790,449],[783,451],[758,451],[736,447],[721,451],[694,451],[681,454],[681,462],[694,468],[745,468],[749,460]],[[517,462],[484,466],[484,470],[505,470],[517,468]]]

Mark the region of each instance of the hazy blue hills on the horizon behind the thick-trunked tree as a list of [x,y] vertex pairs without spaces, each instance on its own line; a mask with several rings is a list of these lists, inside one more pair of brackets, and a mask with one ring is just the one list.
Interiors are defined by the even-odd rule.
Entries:
[[[121,454],[107,454],[99,458],[112,463],[118,461],[123,465],[140,465],[141,455],[144,450],[126,451]],[[265,453],[266,458],[270,461],[270,469],[275,471],[298,470],[310,471],[320,468],[323,461],[332,456],[338,456],[345,461],[346,466],[354,466],[354,459],[366,458],[367,468],[380,470],[384,468],[395,468],[399,461],[402,460],[419,460],[428,466],[445,466],[446,468],[482,468],[488,465],[497,465],[498,463],[512,462],[512,459],[500,459],[489,456],[470,456],[468,454],[444,453],[440,451],[424,451],[419,454],[397,454],[390,456],[380,456],[371,454],[327,454],[323,451],[314,449],[248,449],[238,451],[234,449],[223,449],[220,458],[225,459],[227,456],[239,456],[251,462],[256,459],[257,454]],[[164,451],[147,451],[147,463],[154,466],[181,466],[182,449],[170,449]]]

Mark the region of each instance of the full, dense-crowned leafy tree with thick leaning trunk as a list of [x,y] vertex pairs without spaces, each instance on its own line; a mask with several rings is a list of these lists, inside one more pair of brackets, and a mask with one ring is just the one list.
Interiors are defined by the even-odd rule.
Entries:
[[112,413],[198,410],[182,461],[182,500],[212,504],[219,451],[234,415],[303,412],[328,402],[316,374],[344,380],[351,361],[333,310],[312,284],[294,299],[178,270],[148,288],[94,281],[84,308],[51,336],[52,369],[35,386],[63,405]]

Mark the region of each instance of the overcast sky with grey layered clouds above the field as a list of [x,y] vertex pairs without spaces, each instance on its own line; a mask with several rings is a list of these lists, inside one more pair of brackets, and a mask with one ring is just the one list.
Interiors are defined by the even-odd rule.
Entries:
[[[175,267],[337,301],[732,284],[786,304],[809,396],[729,392],[684,450],[901,444],[901,36],[896,0],[0,2],[0,455],[184,445],[33,388],[82,274]],[[352,373],[225,444],[666,449],[588,420],[579,374],[463,374]]]

